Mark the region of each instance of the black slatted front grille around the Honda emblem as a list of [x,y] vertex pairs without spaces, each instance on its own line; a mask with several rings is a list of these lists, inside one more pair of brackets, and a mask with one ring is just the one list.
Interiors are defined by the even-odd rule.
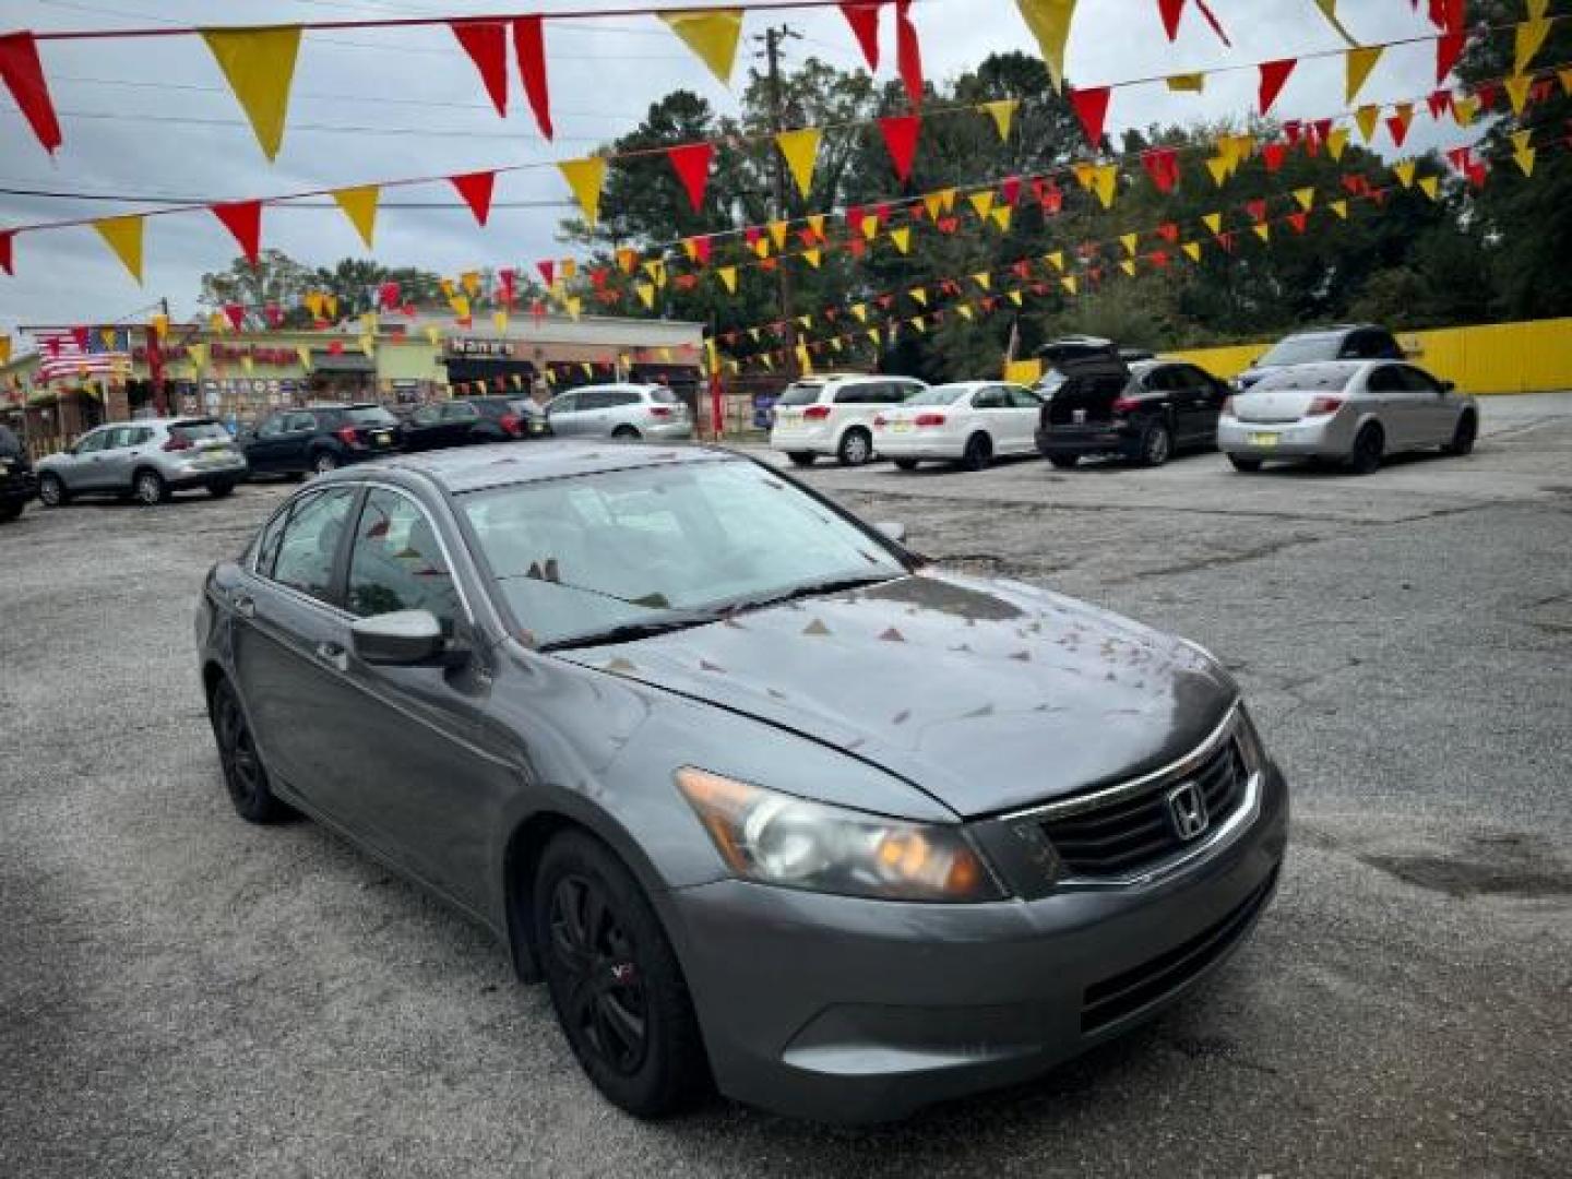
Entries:
[[1105,806],[1047,819],[1042,833],[1060,854],[1067,876],[1118,877],[1174,855],[1190,843],[1179,836],[1168,795],[1193,783],[1206,800],[1207,830],[1226,821],[1245,795],[1243,758],[1229,737],[1193,772],[1165,778]]

